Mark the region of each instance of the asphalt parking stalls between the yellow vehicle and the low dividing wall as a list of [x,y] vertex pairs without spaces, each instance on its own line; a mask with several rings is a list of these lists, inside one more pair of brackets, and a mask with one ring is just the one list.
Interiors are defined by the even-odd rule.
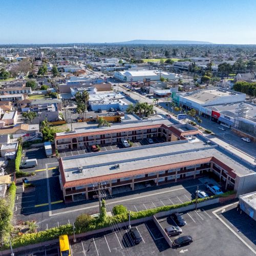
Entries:
[[139,244],[134,243],[129,228],[121,228],[118,224],[113,225],[112,228],[112,231],[77,240],[77,243],[71,245],[72,254],[98,256],[139,253],[146,255],[150,252],[158,255],[170,248],[153,221],[136,226],[142,237]]

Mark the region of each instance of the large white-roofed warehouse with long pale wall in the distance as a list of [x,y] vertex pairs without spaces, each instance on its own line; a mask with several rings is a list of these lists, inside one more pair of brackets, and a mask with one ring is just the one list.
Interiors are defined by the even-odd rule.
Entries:
[[158,81],[161,77],[169,80],[178,79],[175,74],[161,70],[117,71],[114,72],[114,77],[123,82]]

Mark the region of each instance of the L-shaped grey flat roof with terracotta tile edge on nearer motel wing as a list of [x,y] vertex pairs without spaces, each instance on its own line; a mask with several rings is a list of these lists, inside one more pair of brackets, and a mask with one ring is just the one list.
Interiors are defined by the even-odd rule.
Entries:
[[[59,159],[64,188],[214,162],[231,178],[254,174],[256,169],[229,155],[201,135],[194,140],[165,142],[122,150]],[[119,164],[118,168],[114,166]]]

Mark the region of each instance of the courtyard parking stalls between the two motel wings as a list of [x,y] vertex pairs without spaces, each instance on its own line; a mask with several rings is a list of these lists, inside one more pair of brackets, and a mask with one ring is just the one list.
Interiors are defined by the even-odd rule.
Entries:
[[[154,144],[164,142],[163,139],[161,138],[152,138],[152,139]],[[132,145],[133,147],[149,144],[146,139],[143,139],[141,141],[131,141],[131,142],[133,143]],[[100,152],[118,150],[120,148],[124,148],[122,143],[116,143],[113,145],[103,145],[103,146],[100,146]],[[76,155],[82,155],[82,154],[88,154],[88,153],[93,153],[91,147],[86,147],[86,148],[80,147],[78,150],[65,150],[59,154],[60,154],[60,157],[67,157],[67,156],[76,156]]]

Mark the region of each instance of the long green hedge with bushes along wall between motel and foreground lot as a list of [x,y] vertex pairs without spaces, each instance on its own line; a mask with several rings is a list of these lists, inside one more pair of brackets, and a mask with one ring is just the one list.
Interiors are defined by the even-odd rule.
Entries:
[[[201,202],[210,201],[212,199],[217,199],[217,198],[226,198],[226,197],[229,198],[231,195],[235,196],[235,192],[228,191],[222,195],[211,196],[205,199],[198,199],[198,203],[200,204]],[[166,206],[156,207],[153,209],[147,209],[147,210],[142,210],[138,212],[131,211],[131,220],[139,220],[145,217],[151,217],[158,214],[159,212],[166,212],[169,210],[178,209],[178,208],[186,207],[189,205],[195,205],[195,203],[196,203],[196,200],[191,200],[189,202],[185,202],[177,205],[166,205]],[[127,211],[126,207],[124,207],[123,205],[114,206],[113,211],[114,211],[114,214],[116,215],[112,217],[93,218],[87,214],[78,216],[75,222],[76,234],[109,227],[112,224],[122,223],[129,220],[129,212]],[[13,237],[11,239],[11,243],[13,248],[17,248],[21,246],[37,244],[37,243],[42,243],[45,241],[57,239],[61,234],[72,235],[73,234],[72,225],[67,224],[67,225],[56,227],[56,228],[51,228],[45,231],[39,231],[37,233],[22,234],[20,236]],[[10,246],[9,243],[5,243],[2,246],[2,250],[8,249],[9,246]]]

